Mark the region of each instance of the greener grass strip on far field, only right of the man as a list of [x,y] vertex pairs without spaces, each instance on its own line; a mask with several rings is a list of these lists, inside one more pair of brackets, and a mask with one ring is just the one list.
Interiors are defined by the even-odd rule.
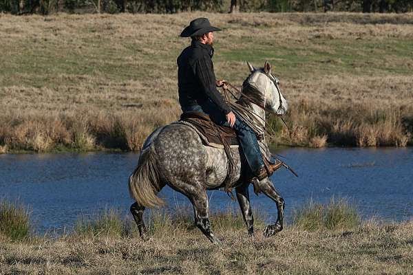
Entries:
[[[305,45],[247,42],[242,43],[242,47],[236,51],[222,50],[217,60],[218,63],[242,62],[248,56],[248,61],[253,64],[261,65],[270,61],[278,75],[288,78],[352,74],[357,67],[362,69],[361,74],[367,76],[411,74],[411,68],[403,63],[413,48],[411,39],[388,39],[380,42],[317,39],[312,42]],[[372,66],[366,66],[368,64]]]

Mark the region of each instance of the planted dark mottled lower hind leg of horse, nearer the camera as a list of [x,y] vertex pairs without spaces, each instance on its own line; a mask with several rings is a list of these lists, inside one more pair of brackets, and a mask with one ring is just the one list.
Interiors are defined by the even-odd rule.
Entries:
[[195,225],[204,233],[205,236],[215,244],[221,241],[215,237],[211,230],[211,223],[208,214],[208,196],[207,192],[202,191],[197,195],[188,196],[193,204],[193,213],[195,215]]

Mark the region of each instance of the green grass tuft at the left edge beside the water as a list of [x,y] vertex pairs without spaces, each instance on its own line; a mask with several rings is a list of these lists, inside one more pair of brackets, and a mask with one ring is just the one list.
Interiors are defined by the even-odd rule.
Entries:
[[14,241],[30,235],[30,214],[23,204],[0,199],[0,234]]

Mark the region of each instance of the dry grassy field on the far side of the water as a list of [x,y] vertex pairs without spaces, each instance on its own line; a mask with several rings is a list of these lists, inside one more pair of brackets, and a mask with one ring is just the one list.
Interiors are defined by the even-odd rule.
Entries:
[[290,103],[273,144],[406,146],[413,131],[413,14],[0,14],[0,153],[138,151],[176,120],[178,37],[215,35],[215,74],[273,65]]

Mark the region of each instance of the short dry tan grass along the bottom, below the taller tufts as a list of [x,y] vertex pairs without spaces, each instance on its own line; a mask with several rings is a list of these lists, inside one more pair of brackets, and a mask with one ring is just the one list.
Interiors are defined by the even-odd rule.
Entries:
[[[353,230],[287,227],[271,238],[218,230],[222,246],[198,229],[167,225],[149,241],[136,235],[61,236],[0,242],[0,274],[410,274],[413,222],[363,223]],[[1,239],[1,237],[0,237]]]

